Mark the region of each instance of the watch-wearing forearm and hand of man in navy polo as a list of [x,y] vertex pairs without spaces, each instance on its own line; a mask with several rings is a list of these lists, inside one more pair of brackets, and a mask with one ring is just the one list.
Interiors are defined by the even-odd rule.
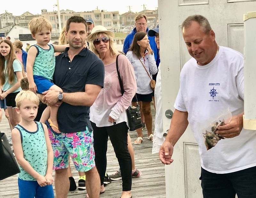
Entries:
[[[63,93],[62,101],[73,106],[92,106],[100,90],[100,85],[86,84],[85,92]],[[58,102],[59,92],[48,90],[43,92],[43,94],[45,94],[43,102],[46,102],[49,106]]]

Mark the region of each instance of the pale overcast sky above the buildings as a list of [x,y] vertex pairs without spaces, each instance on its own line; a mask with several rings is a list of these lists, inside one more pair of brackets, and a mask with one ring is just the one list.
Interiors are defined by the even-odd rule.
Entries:
[[[5,10],[14,16],[19,16],[26,11],[32,14],[41,14],[42,9],[47,11],[57,10],[54,4],[57,4],[57,0],[9,0],[1,5],[0,14],[4,13]],[[98,7],[98,10],[119,11],[119,14],[123,14],[129,11],[129,6],[133,12],[143,11],[143,4],[147,10],[155,10],[158,7],[157,0],[59,0],[60,10],[68,9],[75,12],[92,11]]]

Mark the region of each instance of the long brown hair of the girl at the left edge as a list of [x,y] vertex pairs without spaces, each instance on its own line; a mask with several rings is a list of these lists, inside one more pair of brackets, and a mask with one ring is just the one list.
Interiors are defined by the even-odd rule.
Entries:
[[[12,63],[13,63],[13,61],[15,59],[17,59],[17,56],[15,54],[15,51],[14,51],[14,48],[13,48],[13,44],[12,44],[12,42],[10,40],[4,39],[4,40],[0,41],[0,45],[1,45],[1,43],[6,43],[11,48],[8,60],[6,60],[6,71],[5,72],[7,73],[7,76],[8,76],[8,83],[9,84],[13,84],[14,83],[14,75],[15,74],[14,74]],[[5,83],[5,75],[4,75],[5,65],[4,65],[4,62],[5,62],[5,58],[0,53],[0,86],[3,86],[4,83]]]

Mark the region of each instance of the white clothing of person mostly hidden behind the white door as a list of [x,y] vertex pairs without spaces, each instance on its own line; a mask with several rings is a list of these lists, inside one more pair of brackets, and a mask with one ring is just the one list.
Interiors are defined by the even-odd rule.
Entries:
[[152,154],[158,153],[160,147],[164,143],[164,129],[163,129],[163,118],[162,118],[162,82],[161,82],[161,63],[158,66],[158,73],[156,76],[156,87],[155,87],[155,105],[156,105],[156,116],[155,116],[155,131],[153,136],[153,147]]

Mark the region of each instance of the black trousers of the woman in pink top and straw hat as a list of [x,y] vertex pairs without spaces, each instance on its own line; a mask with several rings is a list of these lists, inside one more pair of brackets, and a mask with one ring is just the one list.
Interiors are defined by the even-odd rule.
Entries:
[[121,122],[108,127],[97,127],[91,122],[93,128],[93,141],[95,152],[95,164],[100,174],[100,185],[103,185],[105,172],[107,168],[107,150],[108,136],[113,145],[118,160],[122,181],[123,191],[132,189],[132,158],[128,151],[127,133],[128,127],[126,122]]

